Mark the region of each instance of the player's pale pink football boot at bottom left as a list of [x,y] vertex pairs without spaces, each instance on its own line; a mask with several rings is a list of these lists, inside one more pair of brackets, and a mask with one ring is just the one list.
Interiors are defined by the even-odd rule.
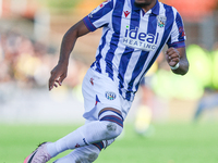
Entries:
[[31,153],[25,160],[24,163],[46,163],[51,156],[47,152],[46,145],[49,142],[44,142],[38,146],[38,148]]

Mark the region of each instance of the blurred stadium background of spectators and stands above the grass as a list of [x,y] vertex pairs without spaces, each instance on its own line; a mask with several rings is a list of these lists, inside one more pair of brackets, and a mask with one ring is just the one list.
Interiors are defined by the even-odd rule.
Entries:
[[[174,75],[164,54],[126,122],[144,133],[154,122],[214,122],[218,117],[218,0],[160,0],[183,17],[190,72]],[[63,86],[48,91],[64,33],[101,0],[0,0],[0,123],[84,122],[82,79],[101,30],[77,40]],[[165,48],[166,49],[166,48]]]

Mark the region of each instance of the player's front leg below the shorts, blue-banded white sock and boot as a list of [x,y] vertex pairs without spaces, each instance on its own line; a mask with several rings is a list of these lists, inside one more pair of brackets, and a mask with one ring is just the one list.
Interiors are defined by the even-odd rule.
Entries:
[[[114,109],[105,109],[99,114],[99,121],[85,124],[56,142],[44,145],[44,148],[37,149],[34,152],[35,154],[33,153],[25,160],[25,163],[34,161],[36,163],[46,163],[51,158],[69,149],[72,150],[92,143],[99,146],[96,142],[118,137],[122,131],[122,125],[123,121]],[[39,161],[37,162],[37,160]]]

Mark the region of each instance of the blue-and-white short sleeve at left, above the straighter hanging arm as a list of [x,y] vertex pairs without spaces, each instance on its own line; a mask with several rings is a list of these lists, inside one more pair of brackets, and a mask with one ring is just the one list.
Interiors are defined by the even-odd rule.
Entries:
[[94,9],[87,16],[83,18],[86,27],[94,32],[97,28],[107,26],[110,23],[113,10],[113,0],[107,0]]

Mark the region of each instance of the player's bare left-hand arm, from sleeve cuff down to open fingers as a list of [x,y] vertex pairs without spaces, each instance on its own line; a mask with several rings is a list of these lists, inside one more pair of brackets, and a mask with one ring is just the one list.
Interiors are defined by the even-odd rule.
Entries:
[[74,48],[74,45],[78,37],[86,35],[87,33],[89,33],[89,30],[82,20],[72,26],[63,36],[59,62],[57,66],[51,71],[51,76],[49,78],[49,90],[51,90],[53,86],[61,86],[68,74],[69,58]]

